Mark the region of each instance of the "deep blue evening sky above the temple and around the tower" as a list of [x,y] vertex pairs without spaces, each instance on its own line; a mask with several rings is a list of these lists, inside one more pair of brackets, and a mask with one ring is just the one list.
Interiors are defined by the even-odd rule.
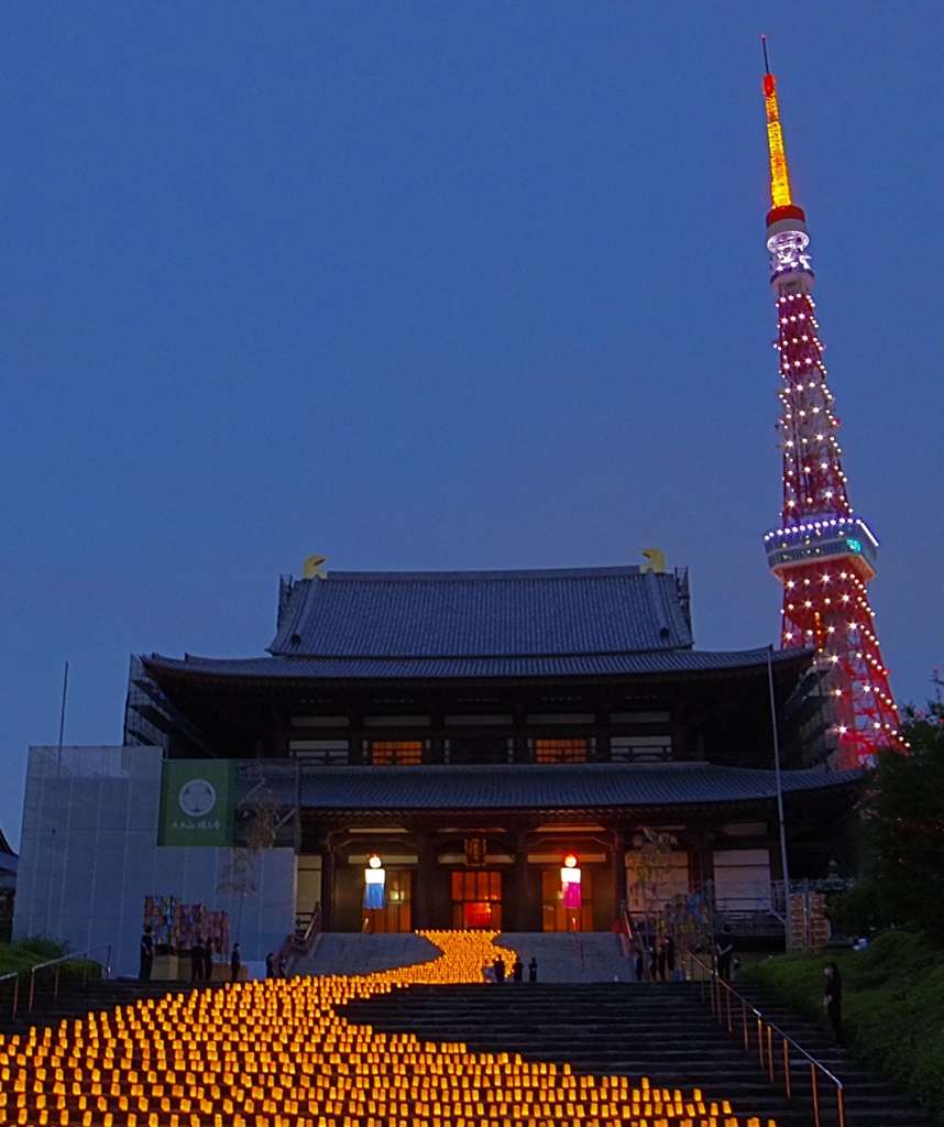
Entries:
[[0,826],[279,573],[691,567],[777,639],[759,34],[902,700],[942,623],[938,0],[8,3]]

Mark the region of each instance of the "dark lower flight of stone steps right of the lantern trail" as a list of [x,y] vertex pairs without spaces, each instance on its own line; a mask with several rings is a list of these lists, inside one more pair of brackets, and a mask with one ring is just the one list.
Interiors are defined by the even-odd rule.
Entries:
[[[757,1056],[745,1051],[742,1038],[716,1022],[695,983],[413,985],[341,1012],[357,1024],[424,1041],[460,1040],[472,1051],[569,1063],[579,1073],[645,1076],[653,1088],[700,1088],[706,1101],[729,1100],[742,1124],[751,1116],[778,1127],[816,1121],[809,1066],[794,1063],[787,1100]],[[836,1063],[835,1053],[826,1056]],[[934,1120],[892,1085],[843,1064],[846,1127],[932,1127]],[[820,1080],[818,1091],[821,1127],[838,1127],[835,1088]]]

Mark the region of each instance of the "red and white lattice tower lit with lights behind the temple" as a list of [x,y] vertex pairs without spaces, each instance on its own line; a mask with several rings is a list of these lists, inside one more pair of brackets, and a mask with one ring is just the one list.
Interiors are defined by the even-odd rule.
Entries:
[[[766,43],[764,56],[766,61]],[[900,747],[898,713],[875,637],[865,585],[875,575],[879,542],[853,514],[839,420],[826,383],[823,346],[810,291],[813,273],[807,218],[790,193],[777,109],[776,80],[764,76],[771,197],[767,249],[776,295],[783,450],[781,525],[764,538],[767,562],[783,584],[781,645],[816,646],[829,667],[839,767],[855,766],[879,748]]]

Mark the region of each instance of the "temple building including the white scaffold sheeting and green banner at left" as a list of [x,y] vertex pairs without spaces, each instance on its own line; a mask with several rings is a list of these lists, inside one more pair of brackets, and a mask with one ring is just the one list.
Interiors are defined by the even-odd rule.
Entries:
[[687,571],[649,554],[315,558],[283,578],[267,655],[134,658],[122,747],[30,752],[16,933],[119,935],[128,969],[145,897],[228,912],[244,957],[315,907],[339,931],[606,930],[639,908],[652,834],[664,902],[775,915],[775,754],[791,877],[845,866],[860,772],[823,765],[811,653],[695,649]]

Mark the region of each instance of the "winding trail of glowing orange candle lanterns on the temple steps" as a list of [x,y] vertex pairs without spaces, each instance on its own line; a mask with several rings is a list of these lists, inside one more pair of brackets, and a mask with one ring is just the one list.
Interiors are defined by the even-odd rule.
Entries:
[[411,983],[480,982],[495,957],[495,932],[420,934],[440,957],[367,976],[145,999],[0,1038],[0,1125],[739,1127],[727,1101],[697,1089],[576,1075],[569,1065],[469,1053],[342,1018],[351,999]]

